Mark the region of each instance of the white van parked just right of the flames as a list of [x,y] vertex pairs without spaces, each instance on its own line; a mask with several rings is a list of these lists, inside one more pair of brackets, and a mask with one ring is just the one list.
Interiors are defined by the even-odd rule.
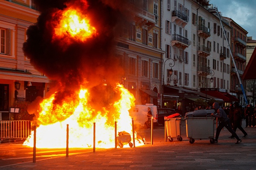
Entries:
[[157,126],[157,106],[146,103],[145,105],[135,105],[133,108],[129,110],[131,118],[134,120],[134,126],[144,126],[145,122],[148,120],[147,118],[147,108],[151,108],[152,116],[153,116],[153,122],[154,125]]

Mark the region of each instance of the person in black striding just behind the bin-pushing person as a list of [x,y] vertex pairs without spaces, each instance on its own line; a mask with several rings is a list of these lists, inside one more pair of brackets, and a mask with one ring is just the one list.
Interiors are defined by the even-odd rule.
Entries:
[[[234,103],[234,124],[233,124],[233,131],[236,132],[237,128],[243,132],[244,136],[243,138],[247,137],[248,134],[246,131],[244,131],[244,128],[241,126],[242,125],[242,119],[243,119],[243,112],[241,109],[241,106],[239,106],[238,102]],[[229,139],[234,139],[234,135],[232,134],[231,137],[228,137]]]

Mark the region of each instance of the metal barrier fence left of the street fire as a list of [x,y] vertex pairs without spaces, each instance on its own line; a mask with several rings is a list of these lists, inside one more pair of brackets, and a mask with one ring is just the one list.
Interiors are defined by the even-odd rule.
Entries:
[[31,121],[0,121],[0,135],[4,138],[27,138],[31,134]]

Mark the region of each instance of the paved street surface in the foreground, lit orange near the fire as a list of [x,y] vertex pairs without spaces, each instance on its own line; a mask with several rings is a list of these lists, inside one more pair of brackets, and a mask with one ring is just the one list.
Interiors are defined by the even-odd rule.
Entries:
[[[189,143],[186,135],[185,121],[181,123],[180,142],[164,142],[164,126],[154,129],[153,145],[151,130],[137,129],[141,136],[146,137],[146,145],[136,148],[96,149],[83,151],[79,154],[57,157],[37,158],[28,162],[1,166],[1,170],[256,170],[256,127],[244,128],[249,136],[242,139],[243,134],[237,130],[242,143],[236,145],[236,139],[228,139],[231,134],[224,128],[219,143],[211,144],[209,139],[195,140]],[[200,126],[200,125],[199,125]],[[245,127],[245,121],[243,121]],[[2,147],[0,145],[0,147]],[[63,152],[65,153],[65,152]]]

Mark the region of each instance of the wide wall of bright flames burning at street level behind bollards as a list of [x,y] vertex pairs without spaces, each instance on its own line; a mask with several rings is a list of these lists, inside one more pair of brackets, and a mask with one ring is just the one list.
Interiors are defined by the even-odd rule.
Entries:
[[[96,147],[113,148],[115,146],[115,127],[108,115],[117,121],[118,132],[126,131],[131,134],[131,142],[133,143],[131,116],[128,110],[134,106],[134,96],[120,84],[117,84],[114,90],[119,92],[120,99],[110,104],[114,108],[111,110],[113,112],[111,115],[106,108],[103,108],[104,113],[91,108],[88,102],[90,93],[87,89],[80,90],[77,100],[72,101],[72,97],[67,97],[62,106],[53,104],[55,94],[44,99],[40,104],[40,109],[38,109],[39,117],[37,120],[41,122],[41,125],[37,127],[36,131],[37,148],[65,148],[67,124],[69,124],[69,147],[92,147],[94,122],[96,123]],[[54,123],[49,124],[51,121]],[[34,145],[33,137],[34,131],[24,142],[24,145],[32,147]],[[136,146],[144,144],[142,142],[144,139],[137,139],[137,134],[135,134],[135,139]],[[124,147],[129,146],[125,145]]]

